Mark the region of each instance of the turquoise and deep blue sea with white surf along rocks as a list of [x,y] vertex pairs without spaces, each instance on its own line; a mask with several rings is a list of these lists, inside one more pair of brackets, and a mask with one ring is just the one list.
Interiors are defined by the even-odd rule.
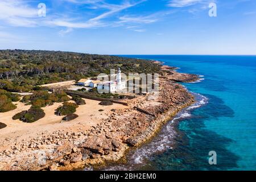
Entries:
[[[126,164],[104,169],[256,170],[256,56],[127,57],[159,60],[179,67],[178,72],[202,75],[199,82],[183,84],[197,103],[150,142],[131,150]],[[216,151],[217,165],[208,163],[209,151]]]

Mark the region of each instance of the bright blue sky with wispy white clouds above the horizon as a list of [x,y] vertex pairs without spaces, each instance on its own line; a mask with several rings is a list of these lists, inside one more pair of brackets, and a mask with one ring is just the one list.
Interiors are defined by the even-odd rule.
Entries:
[[[38,4],[46,16],[38,15]],[[209,3],[217,16],[210,17]],[[0,49],[256,55],[255,0],[1,0]]]

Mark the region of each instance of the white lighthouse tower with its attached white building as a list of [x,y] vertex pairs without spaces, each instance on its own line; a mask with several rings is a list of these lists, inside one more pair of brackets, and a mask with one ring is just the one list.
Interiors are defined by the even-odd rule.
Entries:
[[122,81],[121,69],[118,68],[117,80],[102,82],[98,84],[97,89],[98,89],[98,92],[101,92],[101,93],[113,93],[113,92],[117,92],[118,90],[125,89],[126,88],[125,85],[126,85],[125,81]]

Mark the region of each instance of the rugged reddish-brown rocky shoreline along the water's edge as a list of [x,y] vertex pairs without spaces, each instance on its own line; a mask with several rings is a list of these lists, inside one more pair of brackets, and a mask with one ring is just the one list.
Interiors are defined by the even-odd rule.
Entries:
[[11,146],[11,150],[0,152],[0,169],[72,170],[117,162],[129,147],[152,138],[178,111],[195,102],[192,94],[177,82],[196,81],[197,75],[177,73],[166,66],[162,71],[158,97],[148,94],[127,100],[128,109],[113,110],[90,130],[42,133],[38,138]]

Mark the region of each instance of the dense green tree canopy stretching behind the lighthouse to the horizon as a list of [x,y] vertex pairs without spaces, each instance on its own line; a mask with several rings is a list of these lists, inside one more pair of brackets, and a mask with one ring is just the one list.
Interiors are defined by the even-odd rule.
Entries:
[[160,66],[152,61],[119,56],[0,50],[0,89],[27,92],[36,85],[109,74],[110,69],[118,67],[122,67],[124,73],[156,73],[160,70]]

